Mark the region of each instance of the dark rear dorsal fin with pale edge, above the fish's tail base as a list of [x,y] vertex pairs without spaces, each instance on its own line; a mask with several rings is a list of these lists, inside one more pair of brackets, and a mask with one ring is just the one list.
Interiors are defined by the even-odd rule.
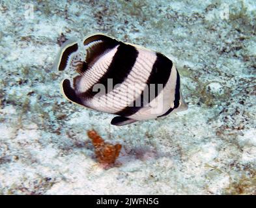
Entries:
[[85,49],[87,52],[85,62],[87,62],[87,64],[91,66],[108,49],[112,49],[118,44],[121,44],[121,42],[110,38],[109,36],[106,36],[104,34],[94,34],[85,38],[85,40],[83,41],[83,45],[85,45]]

